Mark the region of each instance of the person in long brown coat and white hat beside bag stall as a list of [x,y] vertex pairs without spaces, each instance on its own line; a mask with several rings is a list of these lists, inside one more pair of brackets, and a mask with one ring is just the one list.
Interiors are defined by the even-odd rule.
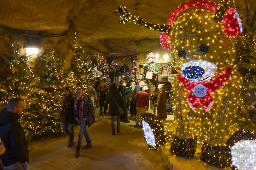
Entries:
[[163,84],[158,85],[159,89],[159,94],[157,96],[157,117],[161,121],[165,121],[167,118],[167,113],[166,113],[166,92],[163,88]]

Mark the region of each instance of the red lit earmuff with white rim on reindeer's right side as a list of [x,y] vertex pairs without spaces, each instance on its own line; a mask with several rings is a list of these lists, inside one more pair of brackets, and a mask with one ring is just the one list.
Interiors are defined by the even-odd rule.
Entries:
[[224,25],[224,30],[231,38],[235,38],[239,33],[243,31],[241,19],[239,18],[239,14],[234,8],[226,10],[226,13],[222,19],[222,23]]

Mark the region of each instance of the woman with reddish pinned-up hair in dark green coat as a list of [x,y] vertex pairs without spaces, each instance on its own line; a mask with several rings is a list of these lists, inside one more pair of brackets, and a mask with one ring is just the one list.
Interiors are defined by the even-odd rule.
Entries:
[[121,115],[121,120],[124,120],[124,123],[129,123],[130,121],[128,120],[128,106],[130,106],[130,99],[129,99],[129,93],[130,89],[126,88],[126,82],[124,80],[120,81],[120,85],[118,86],[118,91],[122,94],[123,96],[123,101],[124,101],[124,114]]

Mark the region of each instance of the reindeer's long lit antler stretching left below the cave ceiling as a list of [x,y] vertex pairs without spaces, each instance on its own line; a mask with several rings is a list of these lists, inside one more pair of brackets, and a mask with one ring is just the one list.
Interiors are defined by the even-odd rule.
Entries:
[[131,15],[125,6],[121,5],[117,10],[122,16],[120,16],[119,22],[125,24],[126,22],[133,22],[141,27],[149,28],[151,30],[169,33],[172,27],[169,25],[159,25],[150,22],[144,22],[139,16]]

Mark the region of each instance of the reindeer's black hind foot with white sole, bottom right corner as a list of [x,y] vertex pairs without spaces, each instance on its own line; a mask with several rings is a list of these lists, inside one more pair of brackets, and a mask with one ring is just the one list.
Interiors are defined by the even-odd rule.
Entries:
[[256,169],[255,134],[247,129],[238,130],[226,142],[229,166],[232,169]]

